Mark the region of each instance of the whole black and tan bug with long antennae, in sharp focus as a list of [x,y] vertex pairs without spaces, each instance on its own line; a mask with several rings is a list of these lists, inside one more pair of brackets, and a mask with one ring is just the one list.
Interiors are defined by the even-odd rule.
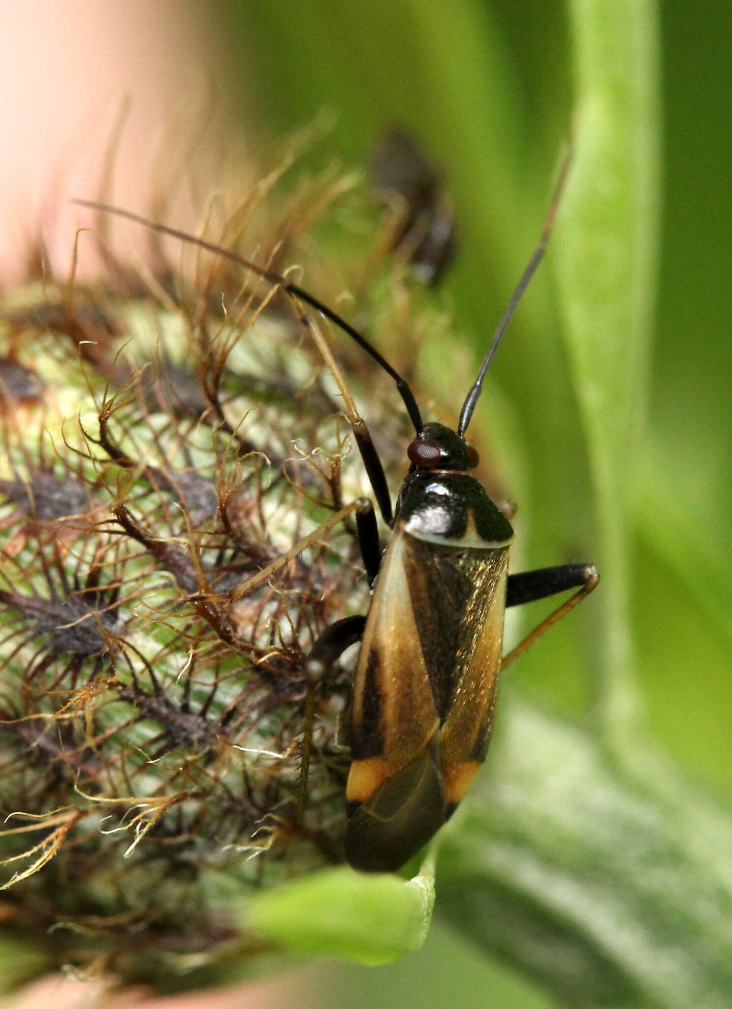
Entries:
[[[301,302],[348,333],[396,382],[414,437],[406,449],[410,468],[393,512],[366,424],[342,388],[374,497],[392,534],[382,558],[373,504],[368,498],[357,502],[361,554],[374,586],[371,605],[366,616],[347,616],[328,628],[308,663],[308,675],[315,679],[361,640],[351,705],[353,762],[346,785],[345,848],[350,864],[364,872],[399,869],[450,817],[485,759],[499,672],[599,580],[595,567],[587,564],[508,574],[513,530],[471,476],[478,456],[465,439],[488,365],[544,253],[568,169],[569,159],[538,245],[496,328],[455,431],[424,424],[405,379],[348,322],[296,284],[235,252],[137,214],[77,201],[194,242],[247,267],[290,297],[303,324],[320,338],[324,353],[328,350],[322,336],[301,312]],[[333,367],[337,372],[335,362]],[[578,591],[502,658],[506,606],[571,588]]]

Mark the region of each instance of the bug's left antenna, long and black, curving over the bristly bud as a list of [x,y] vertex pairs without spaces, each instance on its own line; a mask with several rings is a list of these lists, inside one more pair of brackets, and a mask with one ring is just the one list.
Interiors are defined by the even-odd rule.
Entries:
[[277,273],[273,269],[267,269],[264,266],[258,266],[251,259],[245,259],[244,256],[239,255],[237,252],[232,252],[231,249],[223,248],[221,245],[215,245],[213,242],[207,242],[205,238],[199,238],[197,235],[191,235],[187,231],[178,231],[177,228],[171,228],[167,224],[159,224],[157,221],[151,221],[147,217],[143,217],[141,214],[134,214],[131,210],[124,210],[122,207],[114,207],[108,203],[98,203],[96,200],[72,200],[72,203],[78,204],[80,207],[89,207],[90,210],[99,210],[105,214],[115,214],[117,217],[126,217],[128,221],[135,221],[137,224],[142,224],[146,228],[150,228],[152,231],[158,231],[160,234],[169,235],[170,238],[177,238],[182,242],[189,242],[192,245],[199,245],[203,249],[207,249],[209,252],[213,252],[216,255],[220,255],[223,259],[229,259],[231,262],[236,262],[240,266],[250,269],[252,273],[256,273],[257,276],[261,276],[264,281],[268,281],[269,284],[273,284],[276,287],[282,288],[287,294],[294,295],[295,298],[299,298],[301,301],[306,302],[312,308],[316,309],[326,319],[330,319],[332,323],[338,326],[348,333],[348,335],[362,347],[367,354],[370,354],[373,359],[381,365],[381,367],[386,371],[387,374],[396,382],[396,389],[404,402],[406,407],[406,412],[409,415],[409,420],[414,425],[414,431],[416,434],[420,434],[423,429],[423,424],[421,420],[421,414],[419,413],[419,408],[416,405],[416,400],[414,395],[409,388],[409,383],[406,378],[402,378],[398,371],[394,370],[386,358],[382,357],[378,352],[376,347],[373,347],[366,337],[362,336],[357,329],[354,329],[345,319],[342,319],[333,309],[329,309],[327,305],[314,298],[313,295],[303,291],[296,284],[292,284],[281,273]]

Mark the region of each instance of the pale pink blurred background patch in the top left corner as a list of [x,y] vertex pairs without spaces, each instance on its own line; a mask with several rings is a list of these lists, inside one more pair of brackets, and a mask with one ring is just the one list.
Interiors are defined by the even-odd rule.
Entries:
[[90,223],[68,198],[99,196],[128,102],[116,203],[149,207],[165,173],[185,190],[180,162],[195,136],[203,135],[198,180],[207,158],[215,171],[222,138],[242,127],[229,115],[209,13],[189,0],[0,0],[0,279],[17,278],[39,231],[55,268],[68,272],[75,228]]

